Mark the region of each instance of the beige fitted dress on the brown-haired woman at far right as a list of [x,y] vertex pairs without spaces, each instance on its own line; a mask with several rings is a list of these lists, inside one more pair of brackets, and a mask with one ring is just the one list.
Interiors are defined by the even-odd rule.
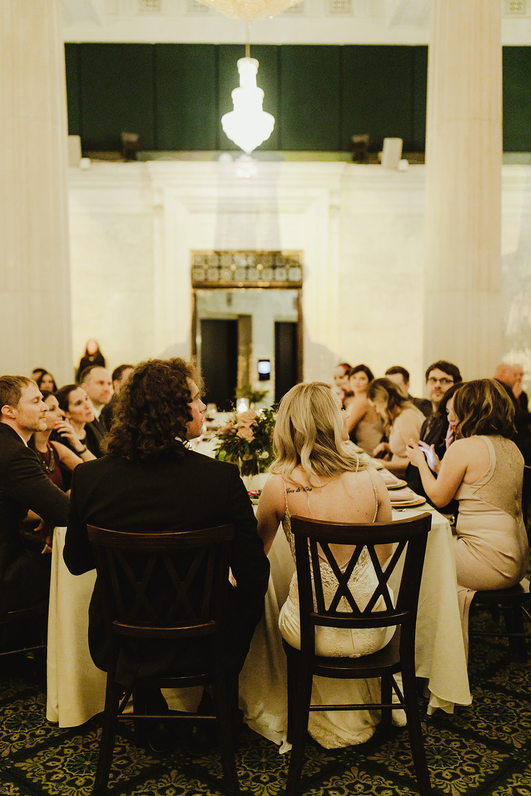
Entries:
[[490,466],[473,484],[462,483],[455,541],[459,609],[468,650],[468,612],[474,591],[506,589],[529,567],[529,544],[521,516],[524,459],[510,439],[480,436]]

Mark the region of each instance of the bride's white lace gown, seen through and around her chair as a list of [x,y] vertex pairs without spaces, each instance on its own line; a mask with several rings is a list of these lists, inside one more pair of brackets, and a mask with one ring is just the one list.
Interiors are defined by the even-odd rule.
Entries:
[[[371,478],[372,480],[372,478]],[[374,484],[373,484],[374,486]],[[376,488],[375,509],[373,522],[376,520],[378,505]],[[286,500],[286,516],[282,522],[283,532],[291,548],[291,555],[295,560],[295,541],[291,533],[291,516],[287,505],[286,485],[284,484],[284,497]],[[328,584],[330,599],[335,591],[337,581],[326,559],[321,560],[322,584],[327,597],[326,585]],[[360,607],[365,607],[369,597],[377,586],[377,576],[369,553],[365,548],[353,569],[349,585],[356,596]],[[364,602],[364,597],[365,602]],[[342,603],[344,603],[342,605]],[[339,604],[339,610],[346,608],[346,600]],[[385,608],[383,599],[377,603],[381,609]],[[300,621],[299,621],[299,590],[297,573],[295,572],[290,583],[290,591],[286,602],[280,609],[279,628],[283,638],[296,648],[300,648]],[[374,630],[343,630],[337,628],[321,627],[316,629],[315,650],[318,654],[330,657],[359,657],[381,650],[392,637],[393,628],[376,628]],[[331,680],[328,677],[314,677],[312,689],[312,702],[318,704],[361,703],[377,702],[380,699],[380,681],[371,680]],[[380,722],[380,713],[377,711],[338,711],[338,712],[310,712],[308,732],[322,747],[334,749],[349,746],[350,744],[364,743],[373,736],[374,728]]]

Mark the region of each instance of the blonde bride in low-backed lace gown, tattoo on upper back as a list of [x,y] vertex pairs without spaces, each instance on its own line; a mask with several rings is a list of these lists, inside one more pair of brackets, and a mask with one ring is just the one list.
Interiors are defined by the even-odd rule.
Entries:
[[[345,444],[346,440],[346,416],[330,384],[319,381],[296,384],[283,396],[274,432],[277,458],[271,465],[273,475],[262,490],[256,514],[258,533],[264,540],[266,552],[271,549],[281,523],[295,560],[291,515],[331,522],[391,520],[391,503],[385,483],[376,470],[359,461]],[[334,548],[332,552],[340,566],[353,552],[348,545],[334,545]],[[392,552],[390,548],[391,545],[387,544],[377,548],[382,564]],[[325,593],[328,602],[334,594],[335,579],[326,560],[321,560],[320,566],[323,586],[326,588],[330,583],[332,589],[330,595]],[[355,599],[359,599],[372,594],[376,585],[377,576],[365,548],[350,576],[349,588]],[[287,601],[280,611],[279,627],[283,638],[299,649],[296,572],[291,579]],[[388,628],[358,631],[318,628],[315,651],[333,657],[357,657],[380,650],[388,640]],[[374,701],[380,699],[377,680],[339,682],[340,690],[348,690],[346,701],[365,701],[368,692]],[[337,690],[337,681],[317,677],[314,679],[313,701],[324,704],[341,701],[335,696]],[[379,720],[379,714],[369,711],[310,712],[308,732],[327,749],[344,747],[368,740]]]

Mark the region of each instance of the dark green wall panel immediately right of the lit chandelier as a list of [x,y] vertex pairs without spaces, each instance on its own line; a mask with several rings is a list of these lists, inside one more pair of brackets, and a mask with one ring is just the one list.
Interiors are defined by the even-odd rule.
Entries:
[[342,150],[341,47],[280,47],[282,150]]

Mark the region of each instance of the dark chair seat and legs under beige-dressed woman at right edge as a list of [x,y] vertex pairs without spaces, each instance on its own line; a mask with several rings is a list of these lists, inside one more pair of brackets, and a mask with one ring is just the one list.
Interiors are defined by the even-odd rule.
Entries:
[[509,589],[476,591],[470,604],[490,608],[494,619],[498,618],[501,608],[506,629],[493,632],[469,630],[469,636],[506,637],[509,640],[511,652],[517,654],[522,663],[525,663],[527,661],[525,639],[529,638],[531,634],[525,632],[524,616],[531,621],[530,600],[529,580],[522,580]]

